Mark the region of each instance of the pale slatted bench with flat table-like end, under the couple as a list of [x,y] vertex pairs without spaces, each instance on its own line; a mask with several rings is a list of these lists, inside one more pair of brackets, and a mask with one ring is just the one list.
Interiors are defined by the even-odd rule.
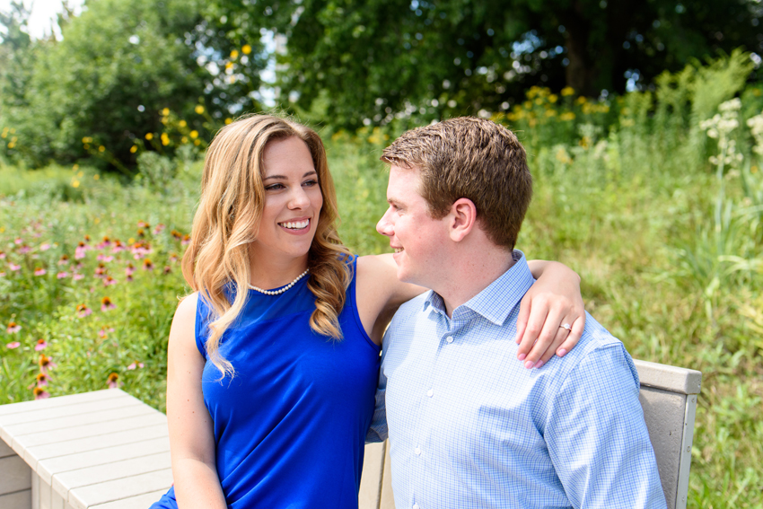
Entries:
[[[636,361],[670,509],[686,507],[701,373]],[[145,509],[172,483],[167,417],[124,391],[0,406],[0,508]],[[394,509],[387,443],[365,447],[361,509]]]

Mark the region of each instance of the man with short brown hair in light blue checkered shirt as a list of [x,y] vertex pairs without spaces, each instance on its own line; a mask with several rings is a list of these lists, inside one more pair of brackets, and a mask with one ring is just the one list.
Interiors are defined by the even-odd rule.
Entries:
[[566,356],[539,370],[512,362],[533,282],[513,250],[532,188],[516,136],[453,118],[408,131],[382,160],[390,207],[377,230],[399,278],[432,288],[384,338],[369,436],[389,428],[395,505],[665,507],[618,339],[588,316]]

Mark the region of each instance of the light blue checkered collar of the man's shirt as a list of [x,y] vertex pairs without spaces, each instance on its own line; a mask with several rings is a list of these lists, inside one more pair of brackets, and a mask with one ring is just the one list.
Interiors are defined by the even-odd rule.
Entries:
[[[499,276],[487,288],[461,304],[453,311],[455,317],[461,307],[478,313],[496,325],[503,325],[506,318],[522,300],[524,294],[530,289],[535,279],[532,277],[530,267],[521,250],[513,250],[514,264],[504,274]],[[422,311],[431,306],[435,312],[445,314],[445,302],[443,297],[430,290],[426,295]]]

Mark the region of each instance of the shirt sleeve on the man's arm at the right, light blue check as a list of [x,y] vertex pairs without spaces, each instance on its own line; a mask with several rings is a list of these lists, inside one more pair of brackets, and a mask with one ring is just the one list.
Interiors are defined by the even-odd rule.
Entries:
[[586,355],[553,399],[545,438],[574,507],[666,507],[638,392],[618,343]]

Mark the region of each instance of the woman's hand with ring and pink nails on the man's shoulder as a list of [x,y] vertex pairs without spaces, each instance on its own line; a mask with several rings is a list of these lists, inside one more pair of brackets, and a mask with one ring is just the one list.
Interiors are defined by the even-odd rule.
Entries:
[[517,318],[517,358],[525,367],[541,367],[555,353],[577,345],[585,328],[580,276],[556,261],[531,260],[538,280],[522,298]]

